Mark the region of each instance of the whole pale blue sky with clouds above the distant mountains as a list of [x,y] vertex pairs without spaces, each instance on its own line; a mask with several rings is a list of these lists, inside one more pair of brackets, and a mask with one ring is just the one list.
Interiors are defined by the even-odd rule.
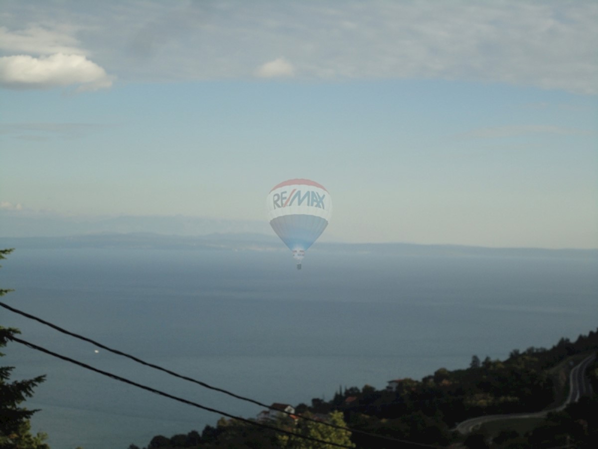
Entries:
[[271,232],[267,193],[309,178],[324,240],[598,248],[596,23],[582,0],[2,0],[0,236]]

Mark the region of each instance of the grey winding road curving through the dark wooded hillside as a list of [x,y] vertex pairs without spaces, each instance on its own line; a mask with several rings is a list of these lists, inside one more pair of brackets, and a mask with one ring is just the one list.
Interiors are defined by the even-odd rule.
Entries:
[[585,370],[588,368],[588,365],[590,365],[590,363],[592,363],[595,358],[596,354],[591,354],[590,356],[585,357],[584,360],[579,362],[571,369],[571,372],[569,373],[569,395],[567,396],[567,399],[565,399],[565,402],[563,402],[562,405],[559,405],[556,408],[542,410],[539,412],[478,416],[457,424],[454,430],[456,430],[459,433],[466,434],[471,432],[481,424],[487,423],[489,421],[508,420],[517,418],[544,418],[550,412],[561,411],[571,402],[577,402],[579,401],[579,398],[581,398],[582,396],[588,396],[592,394],[592,387],[590,381],[585,376]]

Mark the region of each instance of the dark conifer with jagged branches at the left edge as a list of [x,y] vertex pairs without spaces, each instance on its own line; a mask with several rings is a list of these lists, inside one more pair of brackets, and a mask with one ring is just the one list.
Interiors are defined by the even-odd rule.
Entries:
[[[0,250],[0,259],[5,259],[12,250]],[[12,290],[0,289],[0,296]],[[0,326],[0,348],[5,347],[19,329]],[[0,353],[0,357],[4,354]],[[29,418],[37,410],[28,410],[19,405],[33,395],[33,389],[44,381],[45,376],[29,380],[10,381],[14,366],[0,366],[0,448],[2,449],[49,449],[44,443],[44,433],[31,435]]]

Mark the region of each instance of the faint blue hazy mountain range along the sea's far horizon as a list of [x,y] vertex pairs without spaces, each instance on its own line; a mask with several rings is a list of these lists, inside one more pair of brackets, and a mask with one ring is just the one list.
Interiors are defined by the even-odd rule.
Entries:
[[[58,248],[153,248],[170,250],[286,250],[276,235],[263,233],[211,233],[203,236],[158,233],[93,233],[55,237],[0,237],[0,247]],[[598,259],[598,249],[487,248],[464,245],[407,243],[316,242],[313,250],[329,253],[379,254],[417,257],[575,257]]]

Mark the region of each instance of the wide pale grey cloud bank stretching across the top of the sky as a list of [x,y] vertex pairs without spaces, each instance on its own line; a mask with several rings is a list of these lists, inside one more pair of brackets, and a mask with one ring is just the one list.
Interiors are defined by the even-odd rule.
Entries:
[[93,54],[126,81],[423,78],[598,93],[591,0],[3,5],[15,27],[0,28],[5,56]]

